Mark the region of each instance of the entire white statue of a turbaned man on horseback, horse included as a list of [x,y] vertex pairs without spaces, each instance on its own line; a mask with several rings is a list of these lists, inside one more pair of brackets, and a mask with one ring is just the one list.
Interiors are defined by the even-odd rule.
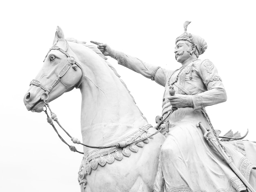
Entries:
[[[81,192],[256,191],[256,143],[233,132],[220,137],[213,128],[205,107],[225,102],[227,95],[216,66],[199,60],[207,43],[187,32],[189,23],[176,38],[174,54],[182,64],[176,70],[145,63],[106,43],[65,38],[57,27],[23,100],[27,110],[45,112],[61,141],[83,154]],[[156,126],[147,122],[106,56],[164,87]],[[82,94],[81,141],[65,130],[49,105],[74,87]],[[83,152],[75,145],[83,145]]]

